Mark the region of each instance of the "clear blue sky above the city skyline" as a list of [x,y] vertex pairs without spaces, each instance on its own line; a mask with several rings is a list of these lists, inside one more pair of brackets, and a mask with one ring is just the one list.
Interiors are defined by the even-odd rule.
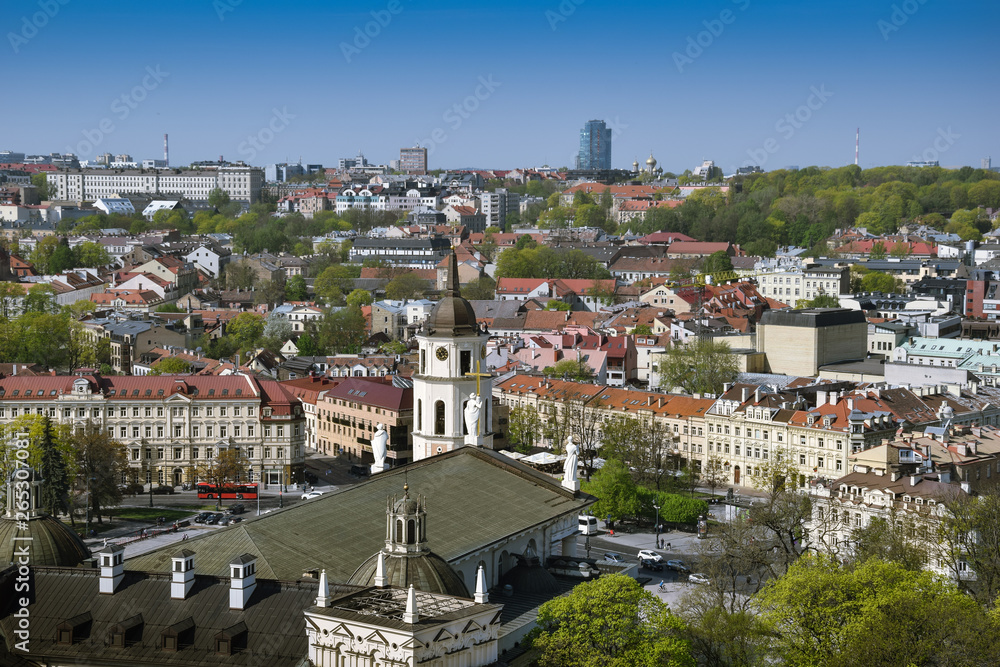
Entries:
[[857,127],[863,167],[1000,163],[996,0],[346,4],[7,0],[0,148],[558,167],[596,118],[617,167],[841,166]]

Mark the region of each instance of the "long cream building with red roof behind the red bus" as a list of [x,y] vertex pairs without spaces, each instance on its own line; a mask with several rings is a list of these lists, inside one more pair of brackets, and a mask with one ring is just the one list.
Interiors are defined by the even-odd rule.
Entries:
[[0,423],[29,414],[107,429],[128,453],[123,484],[193,484],[225,449],[245,457],[248,482],[303,479],[302,402],[278,382],[248,375],[0,379]]

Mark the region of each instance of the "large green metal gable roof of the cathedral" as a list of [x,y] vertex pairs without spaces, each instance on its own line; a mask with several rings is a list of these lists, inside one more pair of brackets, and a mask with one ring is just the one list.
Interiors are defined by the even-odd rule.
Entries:
[[[386,498],[411,495],[427,500],[427,541],[448,562],[503,541],[553,518],[575,515],[595,498],[573,494],[552,477],[503,454],[462,447],[374,475],[370,480],[320,498],[193,538],[198,574],[227,576],[229,561],[257,556],[261,579],[294,581],[304,572],[326,569],[331,581],[346,582],[385,545]],[[177,545],[125,562],[127,570],[168,572]]]

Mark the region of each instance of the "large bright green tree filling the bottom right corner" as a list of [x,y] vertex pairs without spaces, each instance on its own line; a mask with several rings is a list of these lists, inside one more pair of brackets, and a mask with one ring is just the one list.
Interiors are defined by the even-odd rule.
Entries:
[[803,558],[758,594],[772,628],[771,664],[987,664],[996,622],[929,572],[872,559],[855,569]]

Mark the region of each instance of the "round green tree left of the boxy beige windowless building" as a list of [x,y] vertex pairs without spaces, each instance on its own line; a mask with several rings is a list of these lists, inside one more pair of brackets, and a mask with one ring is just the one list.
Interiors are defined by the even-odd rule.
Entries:
[[710,338],[670,348],[657,356],[661,386],[681,387],[688,394],[720,394],[739,366],[729,344]]

